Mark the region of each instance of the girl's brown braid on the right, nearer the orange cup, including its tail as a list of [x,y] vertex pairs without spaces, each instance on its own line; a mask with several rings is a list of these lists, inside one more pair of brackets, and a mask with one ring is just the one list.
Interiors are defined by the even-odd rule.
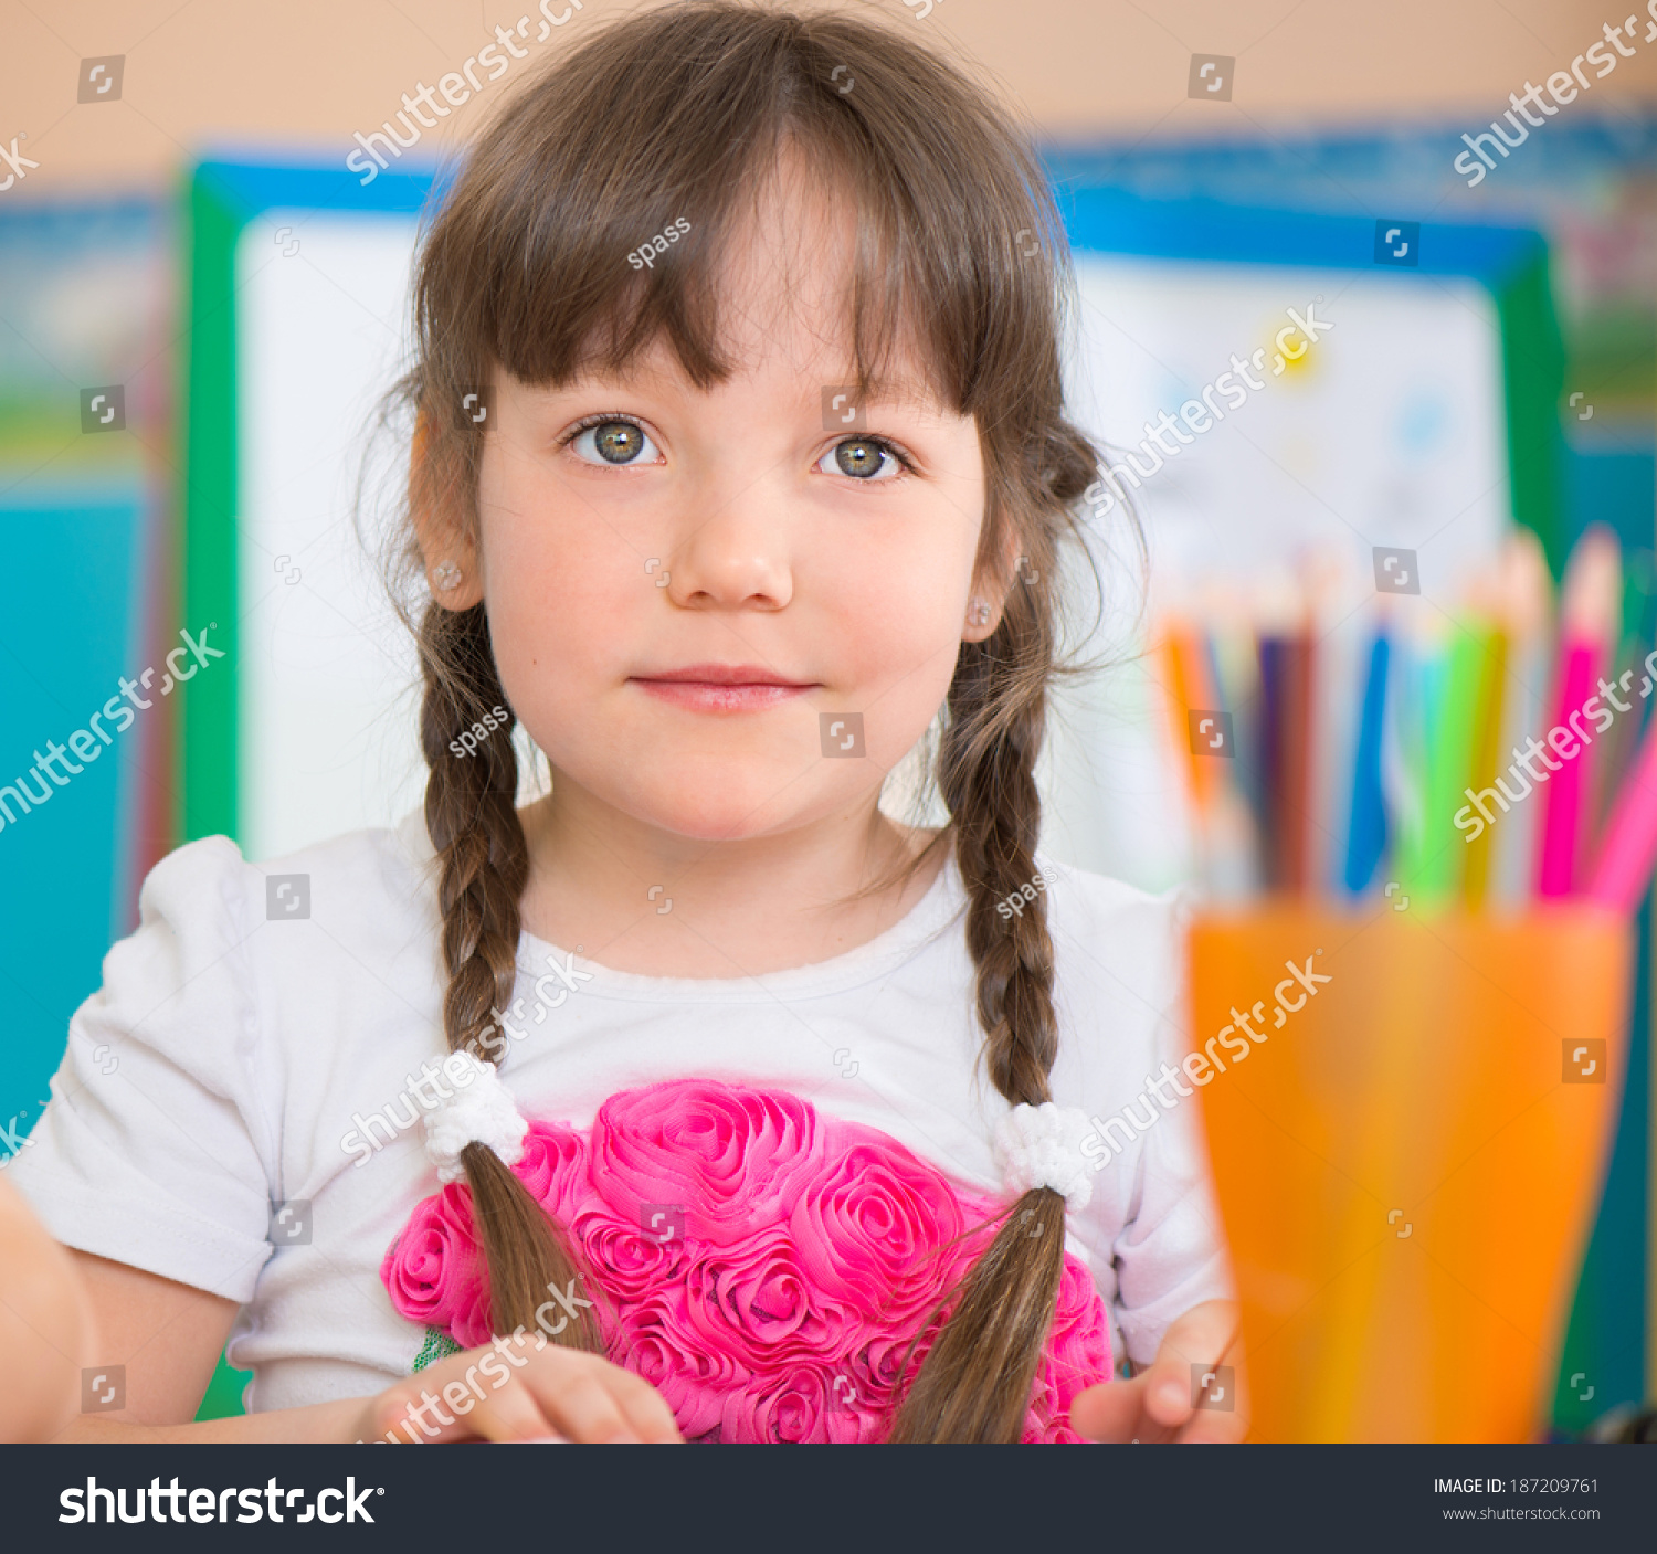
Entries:
[[[1046,722],[1047,615],[1019,591],[986,643],[968,643],[949,688],[940,790],[968,890],[966,943],[991,1082],[1014,1105],[1051,1098],[1059,1050],[1047,898],[1011,926],[996,901],[1036,873],[1036,755]],[[1004,656],[1002,656],[1004,654]],[[915,1377],[895,1441],[1017,1441],[1064,1271],[1064,1198],[1034,1188],[1007,1213],[959,1286]]]

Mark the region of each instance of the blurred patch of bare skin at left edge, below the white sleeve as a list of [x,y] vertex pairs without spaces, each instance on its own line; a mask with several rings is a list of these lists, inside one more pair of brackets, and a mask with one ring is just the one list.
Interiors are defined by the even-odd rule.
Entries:
[[55,1436],[89,1352],[91,1307],[70,1254],[0,1176],[0,1441]]

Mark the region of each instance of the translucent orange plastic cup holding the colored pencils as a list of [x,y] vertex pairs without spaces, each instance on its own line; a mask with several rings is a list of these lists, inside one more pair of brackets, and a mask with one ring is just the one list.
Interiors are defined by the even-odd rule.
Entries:
[[1251,1440],[1536,1438],[1616,1127],[1629,964],[1629,924],[1584,906],[1193,924],[1186,1074]]

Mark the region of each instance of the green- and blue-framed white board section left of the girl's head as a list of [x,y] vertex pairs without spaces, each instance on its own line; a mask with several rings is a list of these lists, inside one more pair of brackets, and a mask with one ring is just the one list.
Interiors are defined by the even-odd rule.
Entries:
[[204,162],[191,181],[184,596],[234,673],[182,731],[179,832],[278,857],[419,802],[408,633],[356,479],[406,348],[431,177]]

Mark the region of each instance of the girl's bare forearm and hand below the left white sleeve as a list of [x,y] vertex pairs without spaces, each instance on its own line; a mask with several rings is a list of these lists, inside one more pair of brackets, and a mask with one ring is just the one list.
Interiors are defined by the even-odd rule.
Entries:
[[[194,1423],[235,1301],[76,1252],[98,1319],[98,1365],[126,1367],[126,1407],[83,1413],[63,1441],[673,1441],[661,1395],[597,1355],[540,1334],[499,1339],[366,1398]],[[429,1402],[428,1402],[429,1400]],[[447,1405],[447,1408],[444,1407]]]

